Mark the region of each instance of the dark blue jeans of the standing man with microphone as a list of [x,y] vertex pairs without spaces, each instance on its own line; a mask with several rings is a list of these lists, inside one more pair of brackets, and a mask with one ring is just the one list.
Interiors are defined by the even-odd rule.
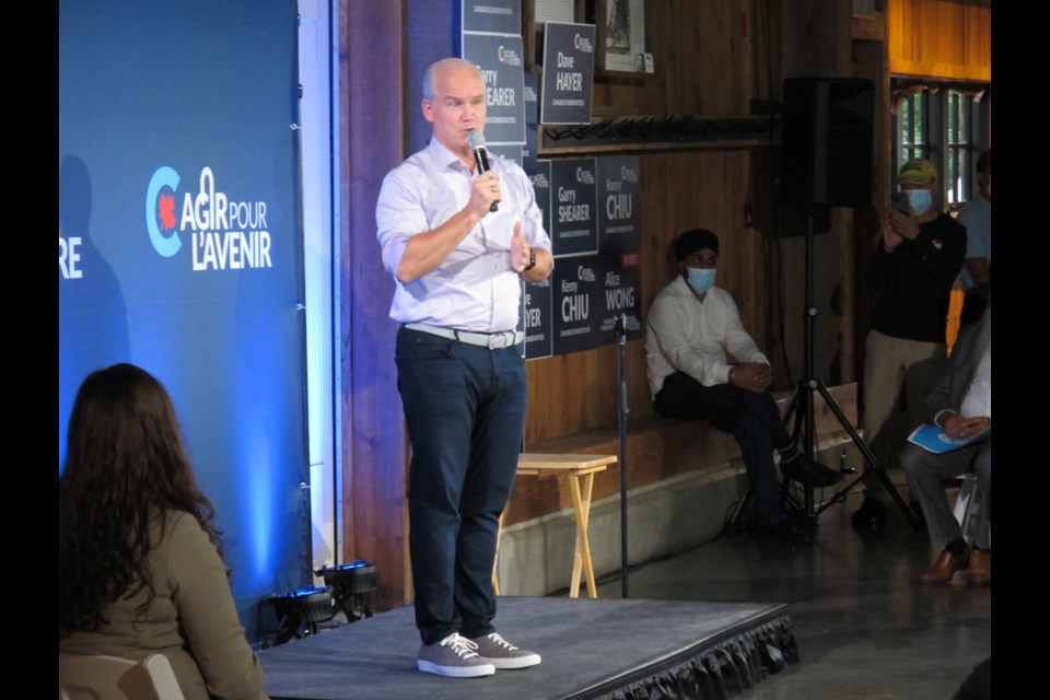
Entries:
[[409,556],[424,644],[495,631],[492,563],[525,425],[518,348],[397,334],[397,388],[412,445]]

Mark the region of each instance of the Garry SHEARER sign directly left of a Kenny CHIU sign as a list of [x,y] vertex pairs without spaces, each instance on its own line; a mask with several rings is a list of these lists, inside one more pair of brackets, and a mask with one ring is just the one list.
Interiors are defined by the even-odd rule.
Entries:
[[555,257],[598,252],[594,159],[550,162],[550,240]]

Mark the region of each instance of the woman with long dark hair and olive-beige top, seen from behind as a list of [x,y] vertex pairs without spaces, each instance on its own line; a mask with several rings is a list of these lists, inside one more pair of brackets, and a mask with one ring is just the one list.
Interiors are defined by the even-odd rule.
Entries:
[[264,698],[214,510],[167,392],[116,364],[81,384],[58,480],[58,649],[171,661],[187,699]]

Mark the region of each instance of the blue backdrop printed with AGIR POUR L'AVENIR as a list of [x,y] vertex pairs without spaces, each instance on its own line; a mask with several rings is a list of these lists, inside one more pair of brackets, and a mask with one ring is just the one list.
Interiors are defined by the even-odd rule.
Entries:
[[167,387],[248,639],[308,581],[294,0],[59,3],[58,458],[77,387]]

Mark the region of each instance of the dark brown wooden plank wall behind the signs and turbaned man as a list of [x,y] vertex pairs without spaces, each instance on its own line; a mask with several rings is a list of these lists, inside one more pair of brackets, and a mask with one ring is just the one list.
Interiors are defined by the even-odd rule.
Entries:
[[[762,114],[790,75],[851,75],[851,3],[725,0],[649,3],[655,79],[599,79],[603,115],[705,117]],[[785,9],[789,10],[785,12]],[[785,19],[786,18],[786,19]],[[806,36],[805,44],[791,40]],[[772,85],[772,89],[770,89]],[[779,109],[779,106],[777,107]],[[540,153],[542,155],[542,152]],[[720,237],[718,284],[737,301],[745,327],[773,362],[775,388],[803,371],[803,212],[774,205],[779,148],[718,148],[641,155],[642,305],[672,279],[670,244],[688,229]],[[852,381],[851,220],[836,215],[817,240],[821,315],[818,376]],[[643,312],[643,318],[645,314]],[[843,352],[843,345],[847,351]],[[631,416],[652,415],[644,341],[628,343]],[[526,446],[616,421],[612,347],[528,363]]]

